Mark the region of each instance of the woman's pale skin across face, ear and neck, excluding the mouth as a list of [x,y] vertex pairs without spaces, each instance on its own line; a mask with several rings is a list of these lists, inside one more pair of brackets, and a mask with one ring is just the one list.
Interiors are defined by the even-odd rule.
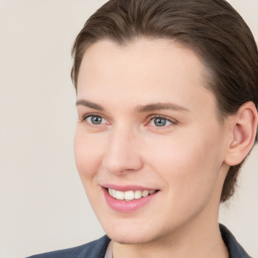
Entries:
[[[114,258],[228,257],[220,195],[229,166],[252,146],[257,111],[247,102],[220,124],[206,73],[195,53],[166,40],[123,47],[100,41],[84,54],[76,164]],[[92,116],[101,122],[93,124]],[[158,118],[164,125],[156,125]],[[159,191],[140,209],[121,213],[105,202],[105,183]]]

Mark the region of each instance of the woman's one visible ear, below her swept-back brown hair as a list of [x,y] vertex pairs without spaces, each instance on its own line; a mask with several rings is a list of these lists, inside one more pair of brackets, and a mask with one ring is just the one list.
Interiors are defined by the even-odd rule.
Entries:
[[248,101],[230,119],[229,141],[224,162],[234,166],[242,162],[254,143],[258,114],[253,102]]

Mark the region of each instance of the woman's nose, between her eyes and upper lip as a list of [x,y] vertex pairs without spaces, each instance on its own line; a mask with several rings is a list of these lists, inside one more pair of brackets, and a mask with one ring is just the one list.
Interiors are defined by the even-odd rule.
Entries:
[[109,136],[108,147],[102,163],[106,170],[113,174],[133,172],[143,167],[140,154],[140,137],[137,132],[117,129]]

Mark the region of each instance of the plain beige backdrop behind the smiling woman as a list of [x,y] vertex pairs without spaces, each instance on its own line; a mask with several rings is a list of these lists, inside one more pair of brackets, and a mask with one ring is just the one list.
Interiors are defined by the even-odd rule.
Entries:
[[[104,234],[77,174],[71,45],[104,0],[0,0],[0,257],[80,245]],[[258,0],[231,0],[258,40]],[[227,225],[258,257],[258,148]]]

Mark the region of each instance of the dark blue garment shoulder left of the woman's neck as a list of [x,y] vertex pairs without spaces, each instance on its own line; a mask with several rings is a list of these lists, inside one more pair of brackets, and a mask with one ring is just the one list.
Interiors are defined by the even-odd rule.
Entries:
[[98,240],[73,248],[32,255],[28,258],[101,258],[105,256],[110,239],[105,235]]

